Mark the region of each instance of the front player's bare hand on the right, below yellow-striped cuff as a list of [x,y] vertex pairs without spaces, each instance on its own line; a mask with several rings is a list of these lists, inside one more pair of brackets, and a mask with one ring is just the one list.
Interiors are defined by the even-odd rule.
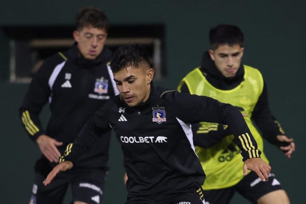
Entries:
[[271,172],[271,166],[263,161],[262,158],[247,159],[244,161],[242,168],[244,176],[248,175],[248,170],[252,170],[259,176],[262,181],[267,181]]

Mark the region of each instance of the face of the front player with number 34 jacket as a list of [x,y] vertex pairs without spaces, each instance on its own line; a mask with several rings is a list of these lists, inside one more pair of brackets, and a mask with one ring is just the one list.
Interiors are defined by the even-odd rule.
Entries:
[[137,106],[149,98],[153,76],[154,69],[147,63],[140,63],[139,67],[128,66],[114,73],[114,80],[126,104]]

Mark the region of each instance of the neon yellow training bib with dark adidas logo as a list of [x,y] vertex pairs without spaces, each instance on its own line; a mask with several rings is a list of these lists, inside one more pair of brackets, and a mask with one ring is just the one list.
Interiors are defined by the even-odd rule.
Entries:
[[[191,94],[209,96],[223,103],[230,103],[240,109],[244,119],[256,139],[261,158],[269,162],[263,153],[263,139],[254,127],[251,116],[259,96],[263,91],[263,77],[259,70],[244,65],[244,81],[231,90],[213,87],[199,68],[189,72],[181,81],[178,90],[186,84]],[[217,130],[217,124],[202,122],[197,133]],[[228,135],[222,141],[208,149],[196,147],[201,165],[206,174],[204,190],[227,188],[237,184],[243,178],[243,162],[240,149],[233,143],[234,136]]]

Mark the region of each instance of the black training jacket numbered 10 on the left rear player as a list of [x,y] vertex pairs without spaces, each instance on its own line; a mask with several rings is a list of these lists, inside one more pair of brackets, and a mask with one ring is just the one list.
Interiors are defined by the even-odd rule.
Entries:
[[[88,118],[119,93],[108,65],[111,54],[105,47],[95,60],[88,60],[80,57],[75,43],[66,52],[44,61],[34,75],[19,109],[24,128],[33,141],[39,135],[46,134],[64,143],[58,147],[63,154]],[[51,117],[45,130],[39,113],[47,102]],[[77,166],[106,167],[109,140],[110,132],[105,132],[90,152],[80,158]]]

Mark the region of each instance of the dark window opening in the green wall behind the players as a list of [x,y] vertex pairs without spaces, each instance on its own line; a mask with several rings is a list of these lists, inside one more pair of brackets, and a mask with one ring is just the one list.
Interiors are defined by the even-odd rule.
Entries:
[[[9,37],[10,81],[28,83],[43,61],[73,45],[73,26],[52,27],[5,27]],[[115,51],[126,44],[139,43],[151,56],[155,69],[155,80],[166,76],[164,26],[156,25],[114,25],[108,31],[106,46]]]

